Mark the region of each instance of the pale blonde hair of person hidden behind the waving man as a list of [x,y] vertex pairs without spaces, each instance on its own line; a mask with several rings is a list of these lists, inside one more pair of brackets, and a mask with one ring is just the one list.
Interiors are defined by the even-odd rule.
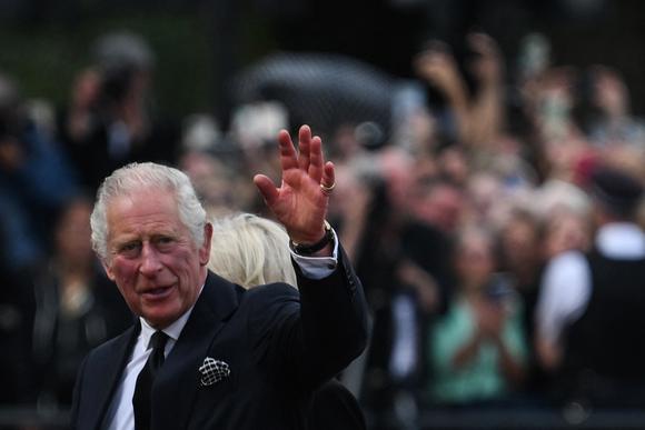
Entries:
[[244,288],[297,284],[289,237],[280,224],[251,213],[216,218],[211,223],[210,270]]

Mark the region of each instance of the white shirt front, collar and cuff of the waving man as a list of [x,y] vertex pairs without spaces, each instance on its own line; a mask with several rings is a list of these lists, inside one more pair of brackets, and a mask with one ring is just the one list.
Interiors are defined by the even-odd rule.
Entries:
[[[291,251],[291,256],[296,263],[300,267],[302,273],[309,279],[322,279],[334,271],[338,262],[338,238],[334,231],[334,252],[331,257],[304,257]],[[201,290],[199,294],[201,294]],[[199,297],[198,297],[199,299]],[[166,343],[166,349],[163,350],[163,356],[168,357],[172,347],[179,339],[181,330],[186,326],[192,308],[188,309],[177,321],[165,328],[162,331],[168,334],[168,341]],[[135,348],[132,349],[132,354],[128,360],[128,364],[123,370],[121,376],[121,381],[119,387],[112,398],[110,409],[108,410],[107,420],[108,430],[135,430],[135,409],[132,408],[132,397],[135,396],[135,387],[137,384],[137,377],[148,357],[152,352],[152,348],[149,346],[150,338],[155,333],[155,329],[148,324],[148,322],[139,318],[141,321],[141,332],[137,338]]]

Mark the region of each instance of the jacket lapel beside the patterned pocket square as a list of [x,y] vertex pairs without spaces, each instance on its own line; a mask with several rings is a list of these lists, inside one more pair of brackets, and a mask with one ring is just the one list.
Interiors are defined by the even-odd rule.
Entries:
[[235,286],[209,272],[192,313],[155,381],[152,428],[187,428],[199,387],[198,369],[237,307]]

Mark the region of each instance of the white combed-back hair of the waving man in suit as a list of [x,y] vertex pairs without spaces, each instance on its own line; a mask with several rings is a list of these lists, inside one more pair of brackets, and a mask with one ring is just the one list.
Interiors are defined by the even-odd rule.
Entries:
[[90,224],[92,228],[92,248],[101,259],[109,258],[108,204],[115,198],[133,196],[141,190],[172,192],[179,209],[179,219],[190,231],[196,244],[199,246],[204,242],[206,211],[199,202],[188,176],[167,166],[135,162],[116,170],[106,178],[97,193]]

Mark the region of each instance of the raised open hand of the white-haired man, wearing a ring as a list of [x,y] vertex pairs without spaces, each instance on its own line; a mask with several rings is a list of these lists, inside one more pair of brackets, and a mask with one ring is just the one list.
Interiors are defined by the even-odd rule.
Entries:
[[309,126],[300,127],[298,150],[286,130],[278,133],[278,143],[280,187],[265,174],[256,174],[254,182],[291,240],[315,243],[325,236],[325,217],[335,187],[334,163],[325,162],[322,142],[311,136]]

